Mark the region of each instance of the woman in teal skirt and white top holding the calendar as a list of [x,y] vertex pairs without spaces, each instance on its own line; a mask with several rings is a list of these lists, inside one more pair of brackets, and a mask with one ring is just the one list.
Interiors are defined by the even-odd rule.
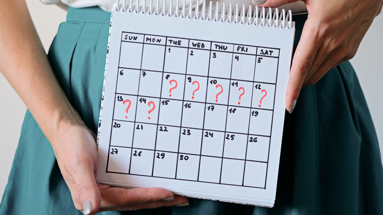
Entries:
[[[94,214],[188,204],[137,213],[383,214],[378,204],[383,170],[372,120],[351,65],[340,64],[354,56],[383,1],[304,3],[308,16],[294,17],[299,43],[286,93],[292,114],[285,119],[275,207],[265,209],[187,199],[162,188],[96,184],[94,132],[110,14],[97,7],[70,8],[47,57],[25,1],[2,2],[0,26],[7,30],[0,31],[0,49],[13,51],[0,57],[0,71],[29,111],[0,214]],[[82,3],[99,4],[111,5]],[[24,38],[29,39],[18,43]]]

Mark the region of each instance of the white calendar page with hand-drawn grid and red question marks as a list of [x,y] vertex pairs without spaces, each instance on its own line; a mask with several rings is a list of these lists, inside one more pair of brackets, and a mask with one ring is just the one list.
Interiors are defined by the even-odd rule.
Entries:
[[273,207],[293,37],[114,11],[97,181]]

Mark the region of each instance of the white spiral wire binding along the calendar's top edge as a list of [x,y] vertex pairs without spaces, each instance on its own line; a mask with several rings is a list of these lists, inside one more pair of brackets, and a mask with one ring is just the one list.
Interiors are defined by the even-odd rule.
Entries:
[[[163,5],[160,7],[160,0],[156,0],[156,6],[153,7],[154,0],[142,0],[142,5],[140,0],[116,0],[116,3],[113,6],[113,10],[130,13],[147,13],[161,16],[174,16],[188,19],[200,19],[208,20],[215,22],[227,22],[235,23],[242,25],[255,25],[255,26],[267,26],[267,27],[280,27],[288,29],[292,27],[292,12],[288,10],[287,12],[282,9],[279,13],[278,8],[265,8],[258,6],[249,5],[247,10],[246,6],[242,5],[242,8],[235,4],[233,6],[230,3],[226,7],[225,3],[219,4],[216,3],[215,8],[213,7],[213,2],[210,1],[208,8],[206,9],[206,0],[195,0],[195,3],[192,3],[192,0],[189,1],[189,7],[186,7],[186,0],[183,0],[182,7],[180,7],[180,0],[176,1],[176,7],[173,8],[173,0],[169,0],[169,5],[166,5],[166,0],[163,0]],[[147,6],[147,1],[149,1],[149,6]],[[202,2],[201,2],[202,1]],[[215,10],[214,10],[215,9]]]

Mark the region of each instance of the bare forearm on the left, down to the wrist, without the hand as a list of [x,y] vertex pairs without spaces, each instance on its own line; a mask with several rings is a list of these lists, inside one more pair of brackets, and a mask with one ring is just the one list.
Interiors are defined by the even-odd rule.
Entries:
[[83,125],[55,78],[24,0],[1,1],[0,27],[0,71],[51,143],[63,125]]

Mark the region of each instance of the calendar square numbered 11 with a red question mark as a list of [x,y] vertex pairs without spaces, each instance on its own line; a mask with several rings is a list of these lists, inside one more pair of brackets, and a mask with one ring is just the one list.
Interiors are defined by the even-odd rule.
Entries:
[[250,108],[252,88],[250,81],[231,81],[229,105]]

